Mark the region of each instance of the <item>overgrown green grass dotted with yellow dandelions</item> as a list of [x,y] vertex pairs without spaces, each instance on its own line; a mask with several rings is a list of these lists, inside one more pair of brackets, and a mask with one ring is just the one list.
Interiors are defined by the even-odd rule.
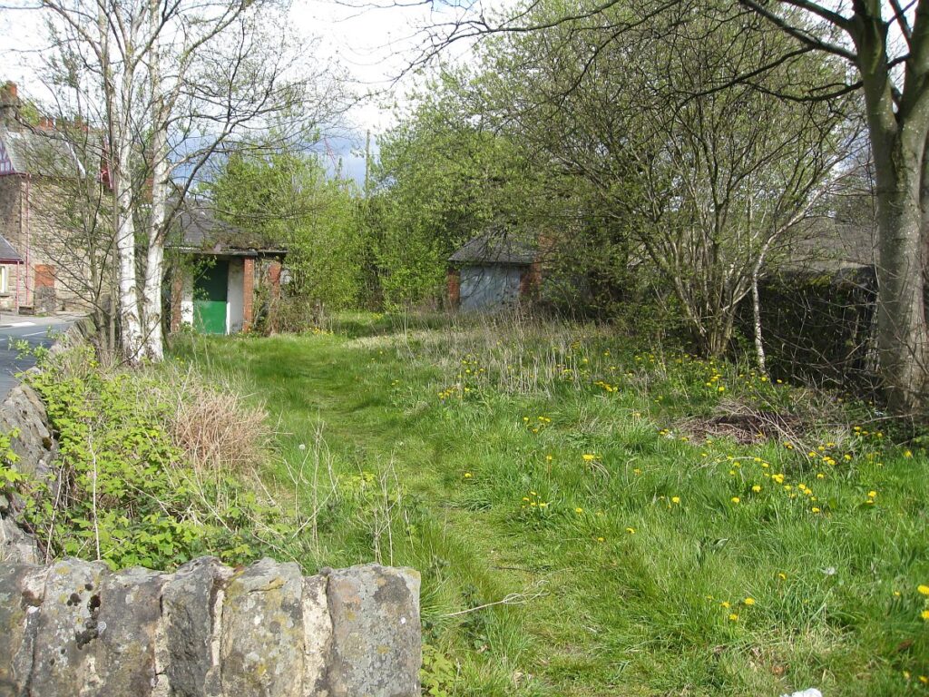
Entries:
[[[929,694],[929,465],[863,407],[592,327],[335,326],[175,352],[268,410],[307,570],[422,572],[449,694]],[[694,435],[724,402],[832,425]]]

